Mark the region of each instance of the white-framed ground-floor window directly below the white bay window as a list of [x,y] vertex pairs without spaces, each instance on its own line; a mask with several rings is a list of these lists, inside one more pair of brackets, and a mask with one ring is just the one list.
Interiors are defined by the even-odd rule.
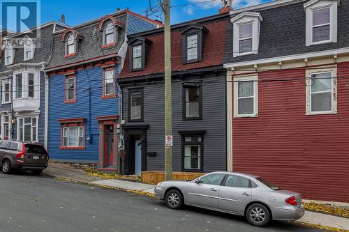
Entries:
[[17,118],[17,139],[20,141],[38,141],[38,118],[24,117]]

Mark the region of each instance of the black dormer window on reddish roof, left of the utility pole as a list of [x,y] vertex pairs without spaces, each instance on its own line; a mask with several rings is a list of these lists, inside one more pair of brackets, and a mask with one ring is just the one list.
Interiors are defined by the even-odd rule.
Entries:
[[144,37],[135,37],[128,40],[127,43],[129,45],[128,51],[131,71],[144,70],[151,40]]

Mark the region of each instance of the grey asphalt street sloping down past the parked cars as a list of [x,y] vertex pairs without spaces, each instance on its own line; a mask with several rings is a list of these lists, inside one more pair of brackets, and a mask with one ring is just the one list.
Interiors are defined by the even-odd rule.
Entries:
[[29,173],[0,173],[0,232],[12,231],[321,231],[288,222],[265,228],[244,218],[185,207],[119,190]]

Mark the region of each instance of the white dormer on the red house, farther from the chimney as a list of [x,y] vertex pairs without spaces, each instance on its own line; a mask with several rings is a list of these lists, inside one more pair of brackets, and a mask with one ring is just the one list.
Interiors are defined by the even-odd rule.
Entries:
[[339,0],[313,0],[306,10],[306,46],[337,42],[337,8]]

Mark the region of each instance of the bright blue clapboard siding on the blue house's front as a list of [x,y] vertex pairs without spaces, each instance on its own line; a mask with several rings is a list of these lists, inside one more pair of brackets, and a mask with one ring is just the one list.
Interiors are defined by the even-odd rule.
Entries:
[[[116,75],[119,73],[119,66],[116,65]],[[119,99],[101,99],[103,68],[89,68],[76,72],[77,78],[77,102],[65,104],[65,83],[66,76],[50,76],[49,93],[49,123],[48,123],[48,152],[52,160],[65,162],[98,162],[99,154],[99,125],[98,116],[114,116],[119,114]],[[117,77],[116,77],[117,78]],[[89,93],[84,93],[91,84],[91,118],[89,118]],[[59,119],[85,118],[86,147],[84,150],[61,150],[61,124]],[[91,142],[89,137],[89,123],[91,122]]]

